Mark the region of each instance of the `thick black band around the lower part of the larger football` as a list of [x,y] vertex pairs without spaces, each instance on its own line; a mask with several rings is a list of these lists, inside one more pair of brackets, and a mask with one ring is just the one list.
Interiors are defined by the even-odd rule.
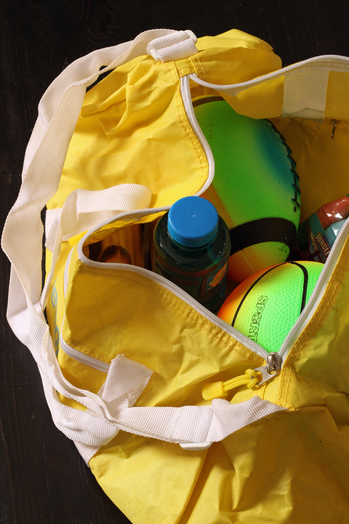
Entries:
[[281,242],[290,248],[296,238],[297,229],[290,220],[270,217],[245,222],[233,227],[229,233],[231,256],[245,247],[263,242]]

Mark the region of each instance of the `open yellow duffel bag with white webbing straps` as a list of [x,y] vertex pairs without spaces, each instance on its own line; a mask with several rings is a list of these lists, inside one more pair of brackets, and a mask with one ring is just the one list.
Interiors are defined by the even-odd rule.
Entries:
[[[54,423],[134,524],[349,521],[348,221],[276,374],[261,346],[146,265],[98,261],[120,235],[142,260],[161,213],[208,190],[201,95],[285,137],[301,220],[348,193],[349,58],[281,67],[236,29],[198,40],[152,30],[73,62],[39,104],[2,238],[8,321],[38,363]],[[257,367],[265,381],[202,398],[205,384]]]

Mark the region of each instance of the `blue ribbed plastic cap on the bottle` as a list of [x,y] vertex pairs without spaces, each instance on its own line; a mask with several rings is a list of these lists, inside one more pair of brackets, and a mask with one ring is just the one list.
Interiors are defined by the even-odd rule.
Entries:
[[215,206],[201,196],[185,196],[171,206],[167,230],[182,246],[204,246],[217,234],[218,213]]

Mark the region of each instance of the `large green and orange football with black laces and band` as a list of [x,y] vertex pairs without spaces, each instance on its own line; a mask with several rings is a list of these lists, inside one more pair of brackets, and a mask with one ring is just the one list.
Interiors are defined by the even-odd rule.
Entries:
[[300,217],[296,162],[271,122],[239,115],[221,96],[198,97],[193,106],[215,159],[201,196],[229,227],[228,278],[242,282],[289,255]]

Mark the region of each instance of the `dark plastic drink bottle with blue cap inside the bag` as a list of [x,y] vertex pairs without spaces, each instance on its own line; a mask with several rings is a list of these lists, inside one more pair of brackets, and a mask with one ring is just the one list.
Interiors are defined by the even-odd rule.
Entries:
[[230,235],[215,206],[200,196],[175,202],[154,230],[154,271],[213,313],[224,301]]

